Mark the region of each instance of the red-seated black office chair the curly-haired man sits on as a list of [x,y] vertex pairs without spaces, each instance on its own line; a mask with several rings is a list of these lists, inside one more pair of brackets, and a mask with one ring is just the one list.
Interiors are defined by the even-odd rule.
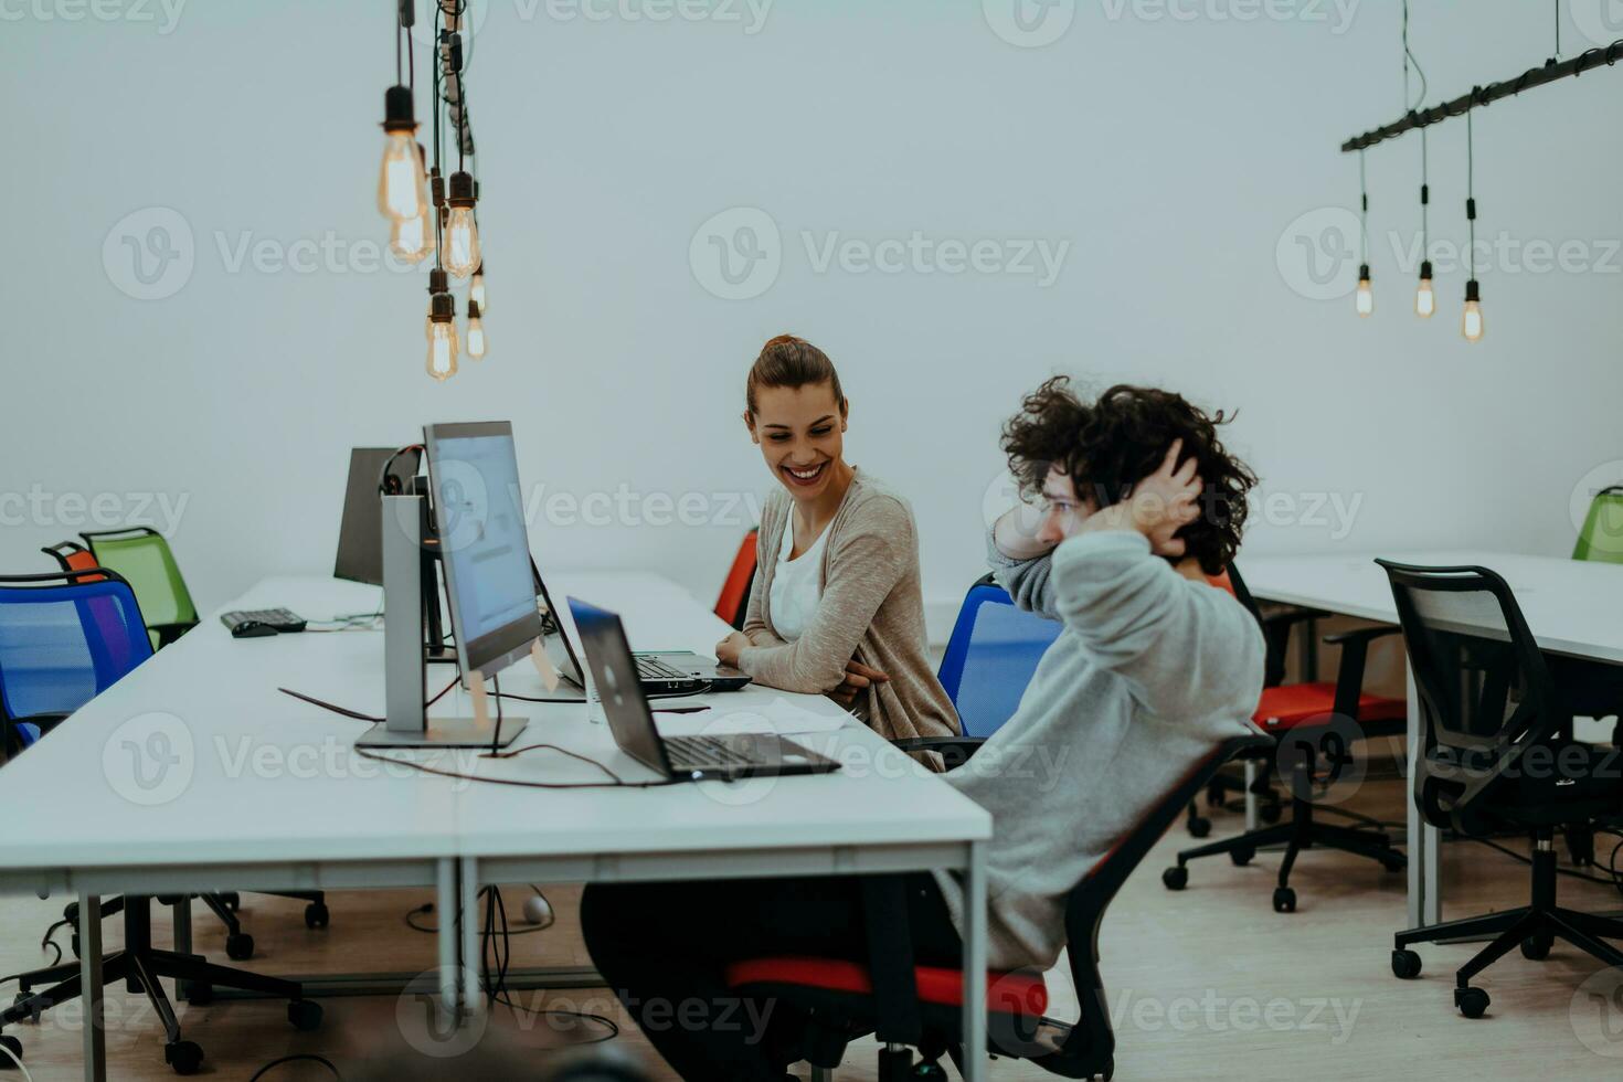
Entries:
[[[1112,1076],[1115,1033],[1099,977],[1099,925],[1105,910],[1128,874],[1212,774],[1232,756],[1271,745],[1261,735],[1219,745],[1071,889],[1065,931],[1071,978],[1081,999],[1081,1019],[1074,1025],[1044,1017],[1047,990],[1042,973],[987,973],[987,1033],[993,1054],[1027,1059],[1066,1079]],[[979,741],[974,738],[964,741],[964,754],[974,754],[975,746]],[[863,905],[870,946],[867,964],[818,957],[745,959],[729,967],[727,983],[740,994],[807,1009],[812,1019],[808,1030],[802,1045],[789,1054],[799,1054],[816,1067],[837,1067],[852,1038],[875,1033],[883,1045],[880,1082],[945,1079],[938,1063],[943,1054],[962,1066],[962,972],[914,965],[901,879],[863,879]],[[917,1067],[909,1046],[922,1053]]]

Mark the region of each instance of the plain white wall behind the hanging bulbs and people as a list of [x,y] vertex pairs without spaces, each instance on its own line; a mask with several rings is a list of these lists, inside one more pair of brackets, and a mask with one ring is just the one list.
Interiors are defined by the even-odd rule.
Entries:
[[[742,380],[781,331],[839,363],[850,456],[912,498],[946,612],[979,573],[998,423],[1057,370],[1238,407],[1232,441],[1266,492],[1302,511],[1311,493],[1362,501],[1345,537],[1334,516],[1259,522],[1251,550],[1469,539],[1565,553],[1571,492],[1623,459],[1623,258],[1597,243],[1623,235],[1623,73],[1477,123],[1479,235],[1591,242],[1599,269],[1513,273],[1519,255],[1485,268],[1477,347],[1457,333],[1464,274],[1440,274],[1441,311],[1419,323],[1388,238],[1401,230],[1402,247],[1417,221],[1409,136],[1370,152],[1380,308],[1358,321],[1350,298],[1292,289],[1300,260],[1290,274],[1276,261],[1298,216],[1319,209],[1316,229],[1332,221],[1323,208],[1354,206],[1355,159],[1337,146],[1402,102],[1397,3],[1347,5],[1274,0],[1300,18],[1238,21],[1214,13],[1245,0],[1173,0],[1193,19],[1079,0],[1060,41],[1022,49],[979,0],[777,0],[755,34],[743,0],[740,21],[667,23],[490,0],[469,86],[492,352],[437,386],[422,373],[425,276],[349,264],[386,235],[373,191],[388,2],[192,0],[162,32],[157,0],[102,0],[114,21],[0,0],[0,565],[45,566],[36,547],[83,527],[76,498],[128,514],[128,493],[161,493],[185,501],[174,543],[203,607],[266,573],[326,569],[347,448],[404,443],[430,420],[513,419],[521,470],[547,493],[760,493],[774,482],[738,422]],[[1550,52],[1545,5],[1417,8],[1433,101]],[[1571,50],[1571,21],[1566,36]],[[1433,131],[1433,240],[1457,245],[1466,128]],[[120,290],[120,235],[156,219],[115,222],[153,206],[183,217],[195,266],[161,279],[185,282],[175,295],[136,300]],[[763,295],[721,300],[690,242],[737,206],[774,219],[782,269]],[[818,273],[802,230],[816,245],[922,230],[1070,251],[1047,289]],[[328,237],[342,271],[234,263],[243,242],[286,253]],[[652,566],[708,597],[740,530],[542,516],[532,540],[552,565]]]

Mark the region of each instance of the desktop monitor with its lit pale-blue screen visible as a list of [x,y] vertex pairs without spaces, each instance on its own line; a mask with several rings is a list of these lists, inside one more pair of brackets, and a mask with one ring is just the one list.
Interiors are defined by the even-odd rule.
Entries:
[[463,681],[492,676],[540,638],[513,425],[428,425],[428,483]]

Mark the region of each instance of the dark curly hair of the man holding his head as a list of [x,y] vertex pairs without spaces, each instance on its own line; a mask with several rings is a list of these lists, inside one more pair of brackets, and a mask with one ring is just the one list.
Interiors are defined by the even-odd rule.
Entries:
[[1003,451],[1021,492],[1035,496],[1050,467],[1058,467],[1070,474],[1078,496],[1092,496],[1105,508],[1154,474],[1172,441],[1182,438],[1180,462],[1193,456],[1204,487],[1201,516],[1177,537],[1206,574],[1222,574],[1240,548],[1245,498],[1256,485],[1251,469],[1217,438],[1217,425],[1233,417],[1222,410],[1208,415],[1172,391],[1128,384],[1089,402],[1070,383],[1070,376],[1048,380],[1003,425]]

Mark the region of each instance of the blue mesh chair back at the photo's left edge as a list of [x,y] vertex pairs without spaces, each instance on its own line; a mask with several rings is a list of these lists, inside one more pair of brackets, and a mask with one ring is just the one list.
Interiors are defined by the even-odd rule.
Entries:
[[24,745],[153,655],[130,584],[104,576],[0,576],[0,712]]

